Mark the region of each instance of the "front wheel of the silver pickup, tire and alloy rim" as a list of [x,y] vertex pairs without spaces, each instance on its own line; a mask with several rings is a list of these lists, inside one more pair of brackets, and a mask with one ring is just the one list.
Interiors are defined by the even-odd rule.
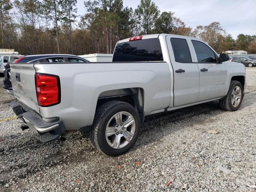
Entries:
[[231,81],[228,94],[220,100],[220,108],[226,111],[236,111],[242,104],[243,87],[239,81]]

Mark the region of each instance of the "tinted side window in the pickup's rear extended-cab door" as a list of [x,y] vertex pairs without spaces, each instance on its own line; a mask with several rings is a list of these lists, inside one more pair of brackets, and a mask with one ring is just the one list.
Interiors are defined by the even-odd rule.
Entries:
[[176,62],[192,62],[186,39],[171,38],[171,44]]

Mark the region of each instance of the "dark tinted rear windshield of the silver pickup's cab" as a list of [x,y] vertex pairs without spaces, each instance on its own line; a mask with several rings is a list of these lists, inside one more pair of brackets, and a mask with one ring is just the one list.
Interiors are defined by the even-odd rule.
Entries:
[[160,41],[158,38],[151,38],[118,43],[112,61],[163,61]]

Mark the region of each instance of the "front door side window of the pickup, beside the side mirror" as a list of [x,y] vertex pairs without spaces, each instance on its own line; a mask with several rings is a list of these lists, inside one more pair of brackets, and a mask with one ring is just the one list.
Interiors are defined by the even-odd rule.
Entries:
[[192,40],[198,63],[216,63],[214,52],[204,43]]

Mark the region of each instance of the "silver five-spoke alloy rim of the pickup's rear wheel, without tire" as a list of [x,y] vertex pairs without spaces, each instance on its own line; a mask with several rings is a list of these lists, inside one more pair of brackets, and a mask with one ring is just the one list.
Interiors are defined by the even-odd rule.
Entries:
[[114,149],[127,146],[134,136],[135,129],[135,120],[130,113],[122,111],[114,114],[106,127],[108,145]]

